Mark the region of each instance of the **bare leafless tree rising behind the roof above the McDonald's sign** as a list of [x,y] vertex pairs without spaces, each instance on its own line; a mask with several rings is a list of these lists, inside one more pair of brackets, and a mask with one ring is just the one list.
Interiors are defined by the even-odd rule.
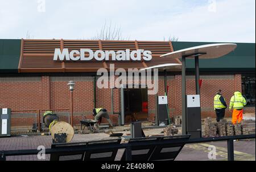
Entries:
[[101,28],[100,32],[96,31],[97,35],[90,38],[90,40],[129,40],[128,37],[124,38],[122,36],[121,27],[116,25],[112,27],[112,22],[108,25],[105,21],[104,26]]

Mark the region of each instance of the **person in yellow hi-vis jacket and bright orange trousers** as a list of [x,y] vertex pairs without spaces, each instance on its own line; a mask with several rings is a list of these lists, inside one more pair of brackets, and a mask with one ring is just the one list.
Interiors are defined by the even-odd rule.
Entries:
[[238,123],[241,123],[243,119],[243,107],[245,105],[246,105],[246,100],[242,96],[242,93],[240,91],[234,92],[234,96],[231,97],[230,104],[229,104],[229,110],[232,111],[232,108],[233,108],[233,113],[232,113],[233,124],[236,124],[237,121]]

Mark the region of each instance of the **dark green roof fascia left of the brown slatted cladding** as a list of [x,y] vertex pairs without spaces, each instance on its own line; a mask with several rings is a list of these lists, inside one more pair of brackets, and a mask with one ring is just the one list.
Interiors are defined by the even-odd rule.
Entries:
[[0,72],[18,72],[21,40],[0,39]]

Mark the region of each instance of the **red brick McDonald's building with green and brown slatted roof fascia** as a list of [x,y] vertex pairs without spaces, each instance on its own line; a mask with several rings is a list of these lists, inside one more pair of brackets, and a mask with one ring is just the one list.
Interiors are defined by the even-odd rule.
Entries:
[[[180,63],[179,59],[162,59],[160,55],[211,42],[167,41],[86,41],[86,40],[0,40],[0,108],[11,108],[12,126],[27,126],[42,118],[45,110],[53,110],[68,121],[70,91],[68,81],[76,82],[73,91],[73,119],[92,118],[92,109],[108,109],[110,118],[118,124],[119,89],[99,89],[94,86],[98,68],[144,68],[163,63]],[[151,61],[53,61],[55,49],[79,50],[150,50]],[[229,104],[233,92],[240,90],[250,106],[245,112],[255,112],[255,44],[237,44],[237,49],[219,59],[200,60],[202,80],[202,118],[215,117],[213,97],[218,89]],[[181,115],[181,70],[167,74],[170,116]],[[164,95],[163,74],[159,72],[158,95]],[[95,89],[94,89],[95,88]],[[195,94],[193,62],[187,62],[187,94]],[[112,103],[113,102],[113,103]],[[147,95],[149,121],[155,119],[155,95]],[[115,113],[115,114],[112,114]],[[230,113],[226,110],[226,117]],[[42,120],[42,119],[40,119]]]

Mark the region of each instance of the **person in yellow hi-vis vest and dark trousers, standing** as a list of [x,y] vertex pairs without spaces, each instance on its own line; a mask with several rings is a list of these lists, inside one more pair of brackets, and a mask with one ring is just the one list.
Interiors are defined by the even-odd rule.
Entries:
[[220,119],[224,118],[226,107],[225,98],[222,96],[221,89],[219,89],[216,96],[214,96],[214,110],[216,112],[217,122],[220,122]]

